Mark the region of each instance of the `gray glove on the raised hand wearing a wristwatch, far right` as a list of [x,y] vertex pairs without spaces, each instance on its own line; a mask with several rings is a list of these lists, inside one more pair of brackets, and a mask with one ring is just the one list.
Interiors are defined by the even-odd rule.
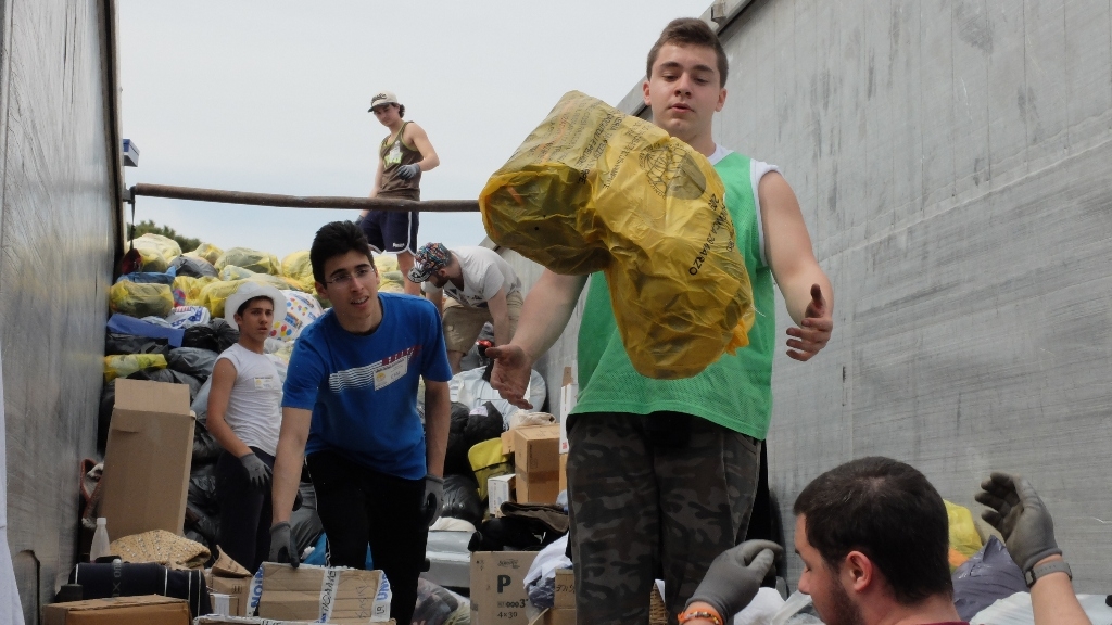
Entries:
[[993,472],[981,488],[974,498],[991,508],[981,517],[1004,536],[1004,546],[1024,576],[1039,560],[1062,555],[1054,540],[1054,519],[1030,482]]

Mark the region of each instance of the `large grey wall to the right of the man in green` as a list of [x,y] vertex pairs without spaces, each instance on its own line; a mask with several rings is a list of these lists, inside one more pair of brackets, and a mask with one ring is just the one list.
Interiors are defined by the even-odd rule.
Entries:
[[[725,6],[739,14],[721,31],[716,140],[783,168],[836,294],[830,347],[775,360],[770,477],[788,544],[795,496],[851,458],[912,463],[974,510],[991,469],[1022,472],[1076,587],[1106,592],[1109,3]],[[787,320],[781,300],[783,338]]]

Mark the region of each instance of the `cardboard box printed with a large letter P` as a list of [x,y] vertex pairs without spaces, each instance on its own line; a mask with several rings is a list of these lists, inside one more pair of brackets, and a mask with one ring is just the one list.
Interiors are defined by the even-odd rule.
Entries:
[[525,574],[536,552],[471,554],[471,623],[527,625]]

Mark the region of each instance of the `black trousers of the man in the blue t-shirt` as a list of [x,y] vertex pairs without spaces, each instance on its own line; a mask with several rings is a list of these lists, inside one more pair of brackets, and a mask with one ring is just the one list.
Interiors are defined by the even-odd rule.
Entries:
[[328,535],[330,566],[365,568],[367,545],[394,597],[390,618],[409,623],[425,566],[428,525],[421,514],[424,479],[370,470],[331,452],[308,457],[317,514]]

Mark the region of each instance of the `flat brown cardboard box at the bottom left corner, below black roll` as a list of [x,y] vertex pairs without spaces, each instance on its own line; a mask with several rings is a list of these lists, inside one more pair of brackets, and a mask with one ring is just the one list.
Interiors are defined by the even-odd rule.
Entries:
[[43,606],[42,624],[189,625],[189,603],[158,595],[56,603]]

